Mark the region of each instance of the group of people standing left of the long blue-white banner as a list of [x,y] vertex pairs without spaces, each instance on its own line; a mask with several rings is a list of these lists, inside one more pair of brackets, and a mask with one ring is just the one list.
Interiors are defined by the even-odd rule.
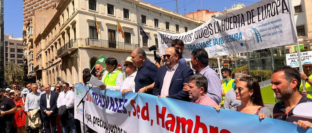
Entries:
[[68,82],[0,89],[0,133],[75,133],[74,90]]

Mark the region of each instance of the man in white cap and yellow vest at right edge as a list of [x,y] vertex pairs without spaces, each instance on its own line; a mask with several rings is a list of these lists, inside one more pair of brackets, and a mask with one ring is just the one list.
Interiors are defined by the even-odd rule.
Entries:
[[302,82],[299,91],[301,94],[306,95],[307,98],[312,99],[312,62],[308,59],[305,59],[302,62],[302,67],[304,73],[300,73],[300,77],[302,80],[305,80],[305,91],[303,90]]

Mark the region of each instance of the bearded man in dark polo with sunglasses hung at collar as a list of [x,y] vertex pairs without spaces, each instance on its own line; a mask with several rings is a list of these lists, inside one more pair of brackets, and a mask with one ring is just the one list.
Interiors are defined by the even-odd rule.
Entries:
[[[293,109],[297,104],[312,102],[305,95],[300,95],[301,78],[299,72],[290,66],[277,67],[273,71],[271,83],[271,89],[274,91],[276,99],[281,100],[273,108],[273,118],[298,123],[298,126],[304,129],[312,126],[312,118],[293,114]],[[261,116],[259,115],[259,117]]]

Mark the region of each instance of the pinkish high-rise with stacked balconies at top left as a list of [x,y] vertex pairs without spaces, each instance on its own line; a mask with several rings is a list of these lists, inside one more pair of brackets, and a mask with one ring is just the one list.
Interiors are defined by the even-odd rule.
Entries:
[[59,1],[60,0],[23,0],[24,25],[27,25],[35,10],[55,8]]

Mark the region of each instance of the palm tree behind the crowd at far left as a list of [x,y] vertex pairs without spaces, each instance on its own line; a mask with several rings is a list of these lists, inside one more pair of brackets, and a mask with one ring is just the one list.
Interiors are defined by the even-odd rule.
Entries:
[[22,67],[16,65],[13,61],[7,61],[7,65],[4,67],[4,71],[7,76],[12,77],[13,83],[16,83],[17,76],[24,72]]

